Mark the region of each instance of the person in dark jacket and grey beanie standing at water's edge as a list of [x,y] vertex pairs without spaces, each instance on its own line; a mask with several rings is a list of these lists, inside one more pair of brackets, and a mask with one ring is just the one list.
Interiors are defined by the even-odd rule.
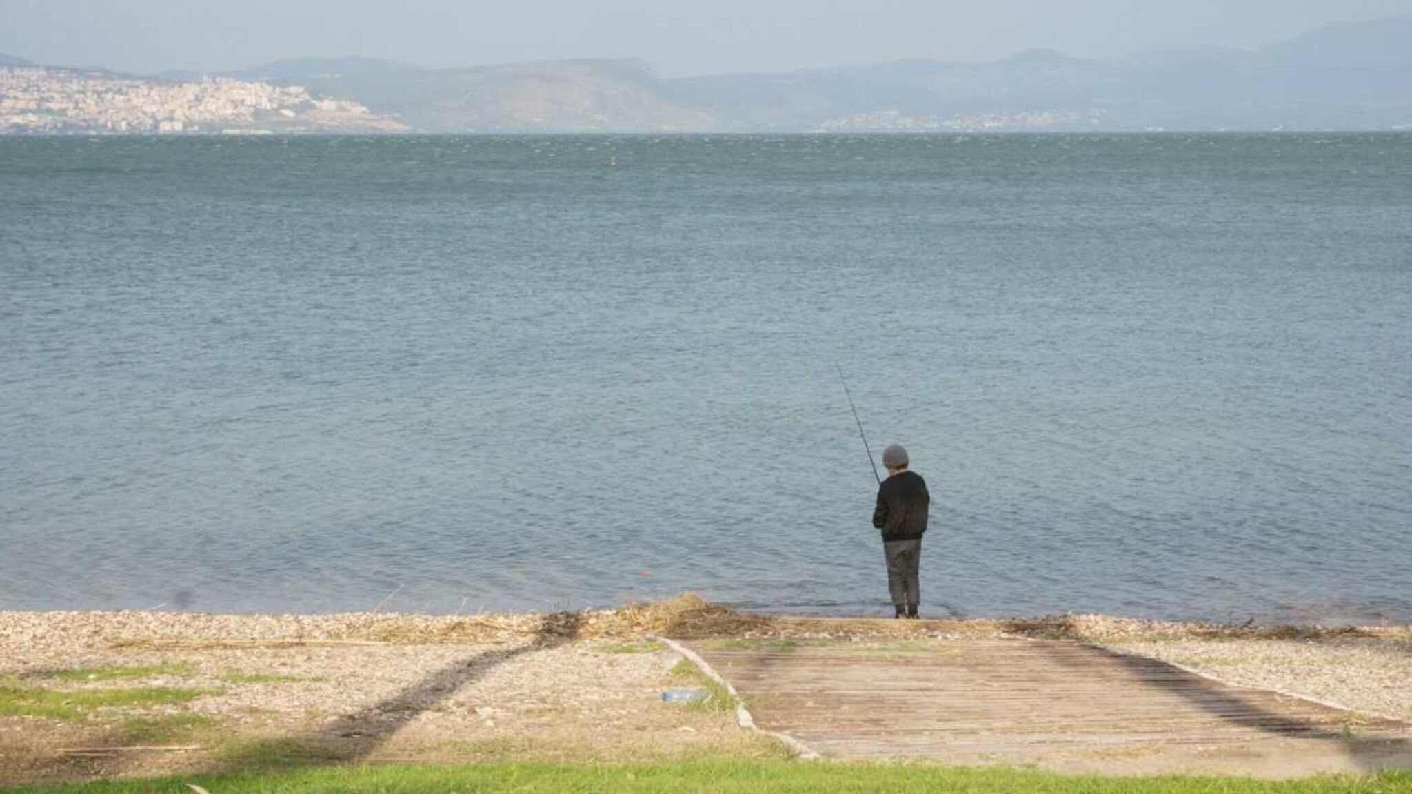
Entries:
[[926,480],[911,470],[907,449],[894,444],[882,451],[887,479],[878,483],[873,526],[882,531],[882,555],[887,559],[887,585],[892,595],[894,617],[918,617],[922,591],[918,571],[922,564],[922,535],[932,497]]

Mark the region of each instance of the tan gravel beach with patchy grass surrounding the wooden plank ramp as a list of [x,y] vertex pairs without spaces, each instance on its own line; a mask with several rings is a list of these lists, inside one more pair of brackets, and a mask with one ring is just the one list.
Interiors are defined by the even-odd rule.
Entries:
[[[786,754],[729,704],[664,704],[664,689],[703,682],[654,634],[1067,637],[1412,721],[1408,627],[789,619],[692,596],[572,615],[0,612],[0,786],[311,760]],[[35,705],[73,692],[133,702],[66,716]]]

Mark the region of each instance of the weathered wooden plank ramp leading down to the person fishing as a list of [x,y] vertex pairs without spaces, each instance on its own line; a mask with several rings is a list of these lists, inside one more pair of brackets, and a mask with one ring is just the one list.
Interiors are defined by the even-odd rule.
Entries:
[[1412,767],[1412,726],[1073,640],[683,641],[825,759],[1262,777]]

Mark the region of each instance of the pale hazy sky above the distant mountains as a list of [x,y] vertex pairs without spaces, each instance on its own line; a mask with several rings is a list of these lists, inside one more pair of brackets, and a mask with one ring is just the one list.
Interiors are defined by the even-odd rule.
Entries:
[[0,0],[0,52],[134,72],[369,55],[424,66],[644,58],[665,75],[1029,47],[1254,48],[1412,0]]

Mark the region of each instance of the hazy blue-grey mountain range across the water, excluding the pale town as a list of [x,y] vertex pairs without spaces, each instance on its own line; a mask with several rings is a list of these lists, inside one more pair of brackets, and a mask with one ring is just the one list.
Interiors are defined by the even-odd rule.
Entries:
[[[28,65],[18,61],[0,57]],[[212,76],[304,86],[425,133],[1385,130],[1412,129],[1412,18],[1118,61],[1031,49],[991,64],[665,79],[631,59],[424,69],[337,58]]]

